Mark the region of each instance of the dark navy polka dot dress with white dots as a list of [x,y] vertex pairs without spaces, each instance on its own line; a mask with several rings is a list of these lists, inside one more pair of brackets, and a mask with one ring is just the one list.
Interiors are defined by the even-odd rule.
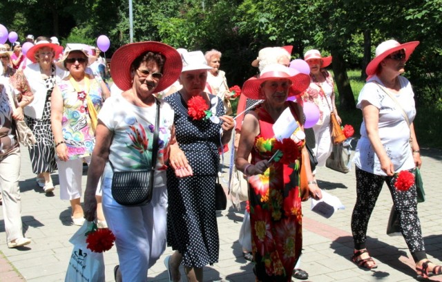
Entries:
[[[209,95],[210,99],[216,97]],[[180,148],[193,169],[193,176],[175,177],[169,166],[167,191],[167,242],[182,256],[187,267],[203,267],[218,262],[219,238],[215,214],[215,182],[220,156],[220,124],[210,120],[192,120],[180,93],[164,100],[175,111],[175,133]],[[216,115],[224,115],[218,98]]]

